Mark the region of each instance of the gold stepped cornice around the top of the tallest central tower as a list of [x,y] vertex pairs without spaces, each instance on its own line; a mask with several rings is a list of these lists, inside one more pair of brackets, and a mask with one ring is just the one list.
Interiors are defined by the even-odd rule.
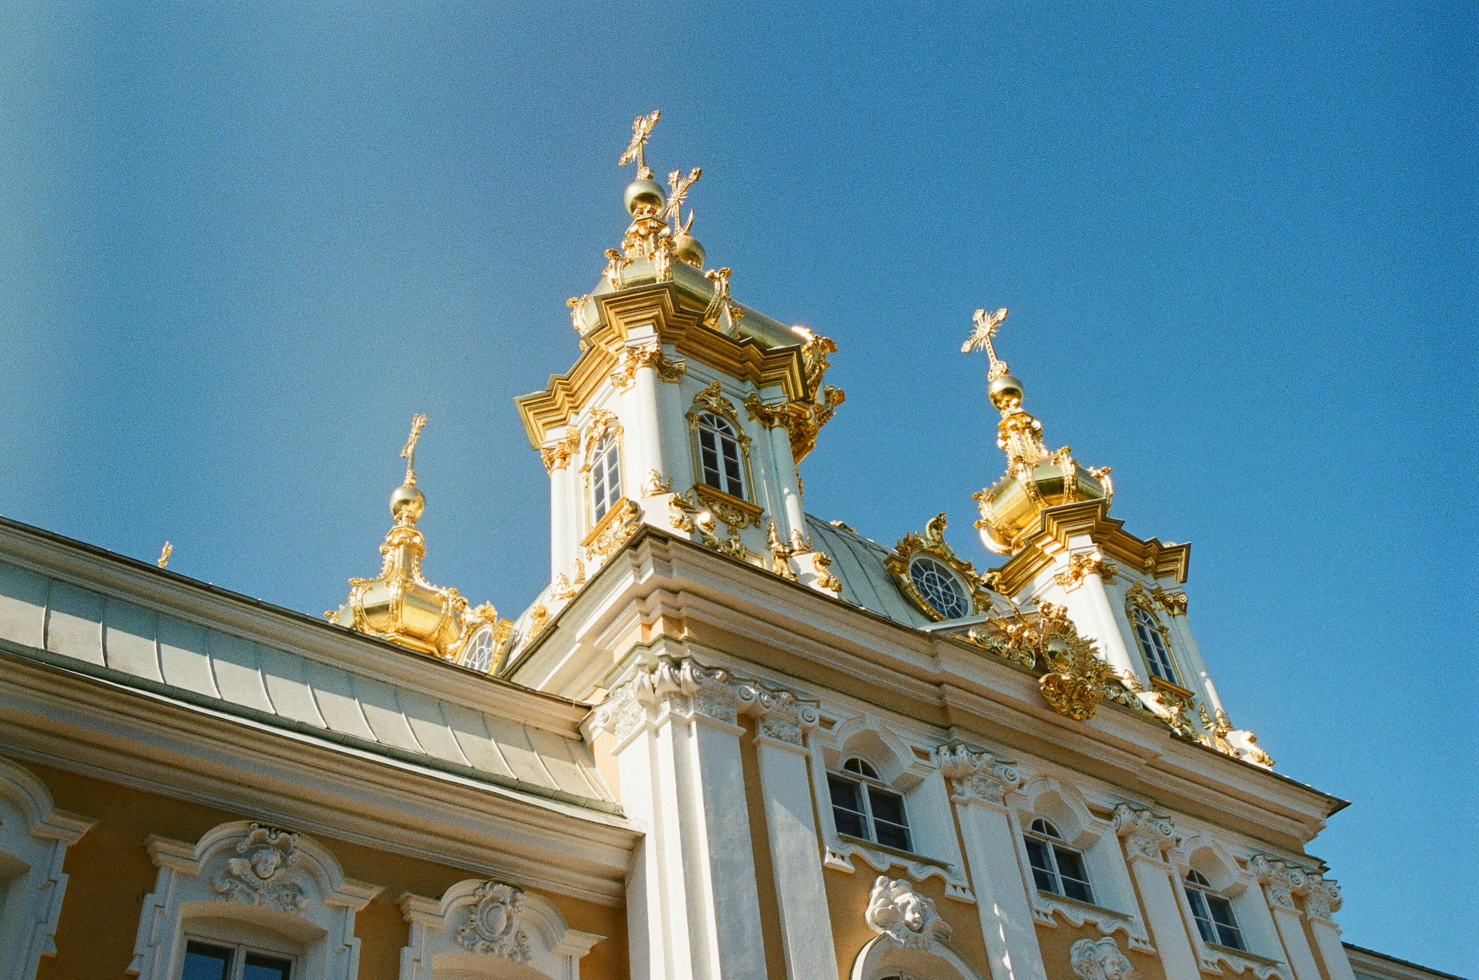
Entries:
[[[593,296],[599,325],[584,336],[586,352],[566,374],[552,374],[543,392],[513,399],[524,421],[524,432],[535,449],[549,432],[569,423],[609,378],[617,353],[634,327],[651,327],[660,343],[671,344],[716,371],[759,389],[779,386],[788,399],[806,398],[806,367],[802,344],[765,347],[753,337],[729,337],[704,327],[703,309],[683,303],[676,282],[652,282]],[[615,353],[614,353],[615,352]]]

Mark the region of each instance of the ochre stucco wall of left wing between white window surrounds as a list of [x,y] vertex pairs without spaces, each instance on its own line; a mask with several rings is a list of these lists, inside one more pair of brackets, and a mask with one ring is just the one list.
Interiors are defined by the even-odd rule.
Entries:
[[[27,763],[25,769],[46,783],[58,807],[98,819],[98,825],[67,850],[68,882],[56,928],[58,955],[41,959],[38,980],[123,980],[133,956],[143,897],[154,890],[157,874],[145,850],[145,838],[160,834],[194,844],[219,823],[253,819],[251,813],[183,803],[44,766]],[[359,976],[365,980],[393,980],[399,973],[401,947],[407,943],[410,927],[396,899],[407,891],[441,897],[448,885],[476,877],[433,862],[317,834],[312,837],[333,851],[346,875],[383,885],[380,894],[355,915]],[[606,937],[581,961],[583,979],[627,980],[626,909],[546,891],[540,894],[555,903],[572,928]]]

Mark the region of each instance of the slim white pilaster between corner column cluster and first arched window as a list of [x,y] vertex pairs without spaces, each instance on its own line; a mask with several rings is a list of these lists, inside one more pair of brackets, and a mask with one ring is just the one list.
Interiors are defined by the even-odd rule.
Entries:
[[827,912],[821,844],[802,745],[802,732],[816,727],[816,720],[813,707],[782,696],[763,707],[754,736],[790,980],[837,974],[837,947]]

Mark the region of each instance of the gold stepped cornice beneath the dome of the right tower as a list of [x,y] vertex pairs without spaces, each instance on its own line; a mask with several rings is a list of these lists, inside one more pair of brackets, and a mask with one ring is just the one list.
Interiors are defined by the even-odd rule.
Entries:
[[1158,538],[1142,541],[1124,531],[1124,522],[1109,516],[1109,503],[1087,500],[1077,504],[1049,507],[1038,514],[1037,526],[1022,535],[1025,547],[995,568],[998,588],[1015,596],[1025,588],[1053,557],[1068,547],[1068,540],[1087,535],[1105,556],[1130,568],[1154,575],[1186,581],[1191,568],[1191,544],[1161,544]]

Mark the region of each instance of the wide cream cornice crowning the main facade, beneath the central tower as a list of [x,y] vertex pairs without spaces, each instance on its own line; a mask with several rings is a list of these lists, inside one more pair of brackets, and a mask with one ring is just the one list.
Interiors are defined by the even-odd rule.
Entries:
[[[964,642],[896,624],[813,590],[645,529],[587,584],[525,652],[513,676],[527,683],[596,686],[612,659],[640,643],[643,625],[682,621],[686,639],[654,639],[664,653],[729,650],[717,662],[779,686],[805,686],[825,702],[856,699],[936,726],[944,742],[1001,745],[1026,763],[1052,758],[1117,786],[1121,798],[1213,822],[1299,851],[1341,801],[1293,779],[1174,738],[1164,724],[1117,705],[1089,721],[1053,712],[1037,678]],[[734,643],[731,643],[734,640]],[[605,646],[603,646],[605,644]],[[593,664],[596,652],[605,658]],[[740,653],[744,652],[744,653]],[[614,656],[615,655],[615,656]],[[703,653],[704,662],[716,662]],[[825,684],[818,668],[834,673]],[[800,678],[805,678],[800,680]],[[833,690],[824,690],[831,686]],[[587,690],[563,689],[584,696]]]

